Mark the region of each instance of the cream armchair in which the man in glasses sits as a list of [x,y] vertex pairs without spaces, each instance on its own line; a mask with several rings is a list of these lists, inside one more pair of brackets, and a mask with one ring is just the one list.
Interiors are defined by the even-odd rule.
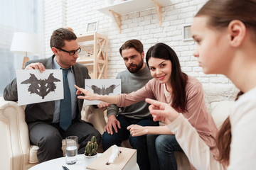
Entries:
[[[26,170],[38,164],[36,145],[31,145],[28,135],[28,125],[25,121],[25,107],[18,106],[14,101],[4,101],[0,97],[0,164],[3,170]],[[101,132],[105,127],[104,122],[97,120],[103,114],[103,109],[95,109],[92,106],[82,108],[82,114],[95,112],[95,120],[89,119]],[[92,115],[89,113],[89,115]],[[85,115],[82,115],[85,118]],[[100,118],[99,118],[100,119]],[[97,121],[97,123],[95,123]],[[103,123],[103,124],[102,124]],[[63,140],[63,154],[65,155],[65,140]]]

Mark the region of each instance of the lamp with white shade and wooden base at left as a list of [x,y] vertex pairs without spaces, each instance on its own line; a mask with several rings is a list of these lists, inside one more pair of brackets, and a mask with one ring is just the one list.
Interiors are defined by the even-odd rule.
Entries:
[[14,33],[10,51],[26,55],[23,57],[23,64],[21,67],[21,69],[23,69],[24,64],[29,61],[28,55],[40,55],[38,35],[35,33]]

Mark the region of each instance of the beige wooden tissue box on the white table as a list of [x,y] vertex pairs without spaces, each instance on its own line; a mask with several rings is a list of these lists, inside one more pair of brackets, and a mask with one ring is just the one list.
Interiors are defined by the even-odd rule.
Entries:
[[118,147],[121,154],[114,159],[112,164],[107,164],[110,159],[110,155],[112,154],[112,147],[107,149],[100,157],[95,159],[90,165],[88,165],[87,169],[92,170],[131,170],[137,167],[137,150],[129,149],[126,147]]

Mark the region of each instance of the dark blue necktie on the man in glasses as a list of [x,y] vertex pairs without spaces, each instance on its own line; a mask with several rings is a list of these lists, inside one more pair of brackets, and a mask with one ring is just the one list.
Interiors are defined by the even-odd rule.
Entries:
[[68,86],[68,71],[69,69],[63,69],[63,89],[64,98],[60,100],[60,128],[67,130],[72,122],[72,110],[71,110],[71,94]]

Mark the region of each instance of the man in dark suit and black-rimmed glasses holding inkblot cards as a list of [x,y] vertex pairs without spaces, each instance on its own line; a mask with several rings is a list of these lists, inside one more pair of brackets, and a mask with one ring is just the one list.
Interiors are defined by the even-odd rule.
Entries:
[[[63,77],[63,82],[67,79],[65,82],[68,86],[68,92],[64,92],[64,99],[28,104],[25,109],[30,141],[39,147],[39,162],[63,157],[61,146],[65,137],[78,136],[78,154],[85,152],[85,145],[92,136],[97,138],[98,144],[101,141],[100,132],[90,123],[81,120],[83,100],[78,100],[74,84],[85,86],[85,79],[90,79],[90,76],[87,67],[76,63],[81,49],[75,33],[66,28],[54,30],[50,38],[50,47],[54,53],[52,57],[33,60],[25,65],[25,69],[39,69],[40,72],[46,69],[62,69],[63,74],[64,70],[67,72],[66,78]],[[4,89],[4,99],[18,100],[16,79]],[[66,103],[63,103],[64,101]]]

